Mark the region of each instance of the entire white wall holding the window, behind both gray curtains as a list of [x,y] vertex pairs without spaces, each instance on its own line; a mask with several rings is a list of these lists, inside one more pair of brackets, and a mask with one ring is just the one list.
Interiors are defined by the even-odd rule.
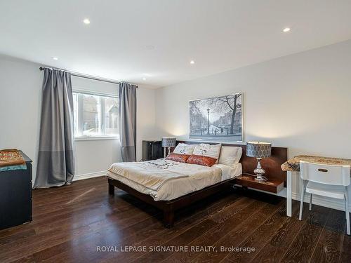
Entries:
[[[0,56],[0,149],[22,149],[37,167],[41,111],[40,65]],[[72,77],[73,88],[118,93],[117,85]],[[153,136],[155,91],[140,86],[137,91],[137,158],[141,141]],[[121,161],[118,140],[76,141],[76,178],[101,175],[111,163]]]

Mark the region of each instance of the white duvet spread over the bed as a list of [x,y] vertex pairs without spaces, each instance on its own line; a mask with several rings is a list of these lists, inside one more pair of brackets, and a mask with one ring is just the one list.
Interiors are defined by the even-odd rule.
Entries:
[[241,163],[207,167],[165,159],[114,163],[107,172],[107,177],[149,194],[155,201],[172,200],[238,175]]

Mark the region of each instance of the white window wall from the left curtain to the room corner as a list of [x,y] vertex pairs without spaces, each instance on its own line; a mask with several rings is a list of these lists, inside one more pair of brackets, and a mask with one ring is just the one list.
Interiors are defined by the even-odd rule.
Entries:
[[[90,90],[118,94],[114,83],[72,76],[73,90]],[[137,90],[137,160],[142,159],[142,140],[149,140],[155,128],[155,90],[140,86]],[[76,141],[76,178],[101,175],[111,163],[121,161],[119,140]]]

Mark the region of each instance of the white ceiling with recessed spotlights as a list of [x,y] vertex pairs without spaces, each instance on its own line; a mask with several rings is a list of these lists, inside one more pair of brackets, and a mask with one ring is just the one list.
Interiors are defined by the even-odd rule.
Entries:
[[351,0],[1,0],[0,53],[160,87],[351,39],[350,11]]

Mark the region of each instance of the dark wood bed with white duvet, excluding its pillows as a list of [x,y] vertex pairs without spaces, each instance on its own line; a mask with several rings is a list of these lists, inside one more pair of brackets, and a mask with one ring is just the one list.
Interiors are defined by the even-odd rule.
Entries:
[[240,147],[242,156],[240,153],[239,159],[230,165],[222,162],[211,167],[166,159],[113,163],[107,171],[109,194],[114,196],[117,187],[156,206],[164,212],[165,227],[172,227],[176,210],[234,185],[243,173],[241,161],[250,168],[256,161],[246,156],[245,145],[222,146]]

